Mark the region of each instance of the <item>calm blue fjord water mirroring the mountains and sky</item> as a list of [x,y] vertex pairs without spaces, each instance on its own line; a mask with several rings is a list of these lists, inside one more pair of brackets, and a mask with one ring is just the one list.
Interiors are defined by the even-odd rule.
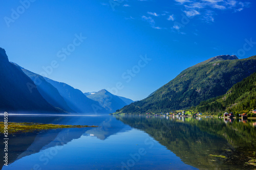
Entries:
[[[3,169],[250,169],[255,121],[110,115],[12,115],[10,122],[96,125],[9,136]],[[3,152],[3,144],[1,143]],[[220,157],[222,156],[222,157]],[[1,167],[2,167],[1,166]]]

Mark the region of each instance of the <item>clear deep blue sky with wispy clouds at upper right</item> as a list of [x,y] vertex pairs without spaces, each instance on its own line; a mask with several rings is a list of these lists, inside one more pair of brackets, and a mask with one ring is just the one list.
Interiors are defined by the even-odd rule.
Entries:
[[141,100],[208,58],[256,55],[255,3],[3,1],[0,47],[10,61],[83,92]]

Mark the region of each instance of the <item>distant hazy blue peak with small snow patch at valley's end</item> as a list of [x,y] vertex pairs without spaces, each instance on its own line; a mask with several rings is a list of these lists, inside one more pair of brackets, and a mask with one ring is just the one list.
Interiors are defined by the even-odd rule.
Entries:
[[111,113],[115,112],[117,109],[121,109],[125,105],[131,104],[133,101],[127,98],[123,98],[109,91],[102,89],[98,92],[84,93],[88,98],[99,102],[99,104]]

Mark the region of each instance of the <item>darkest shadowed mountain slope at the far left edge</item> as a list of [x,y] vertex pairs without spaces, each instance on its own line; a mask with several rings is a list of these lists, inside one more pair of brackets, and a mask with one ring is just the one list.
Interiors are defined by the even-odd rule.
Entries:
[[38,92],[34,82],[22,69],[11,64],[0,48],[0,111],[60,112]]

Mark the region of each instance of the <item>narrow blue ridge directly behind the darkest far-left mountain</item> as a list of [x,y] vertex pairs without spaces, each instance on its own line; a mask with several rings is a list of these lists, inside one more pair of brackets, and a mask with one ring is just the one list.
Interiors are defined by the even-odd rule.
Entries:
[[[19,65],[13,63],[14,65],[20,67]],[[74,113],[73,111],[59,94],[58,90],[48,83],[44,77],[35,74],[23,67],[20,67],[23,72],[35,83],[37,90],[42,95],[42,97],[50,104],[52,104],[56,108],[60,108],[63,111]]]

